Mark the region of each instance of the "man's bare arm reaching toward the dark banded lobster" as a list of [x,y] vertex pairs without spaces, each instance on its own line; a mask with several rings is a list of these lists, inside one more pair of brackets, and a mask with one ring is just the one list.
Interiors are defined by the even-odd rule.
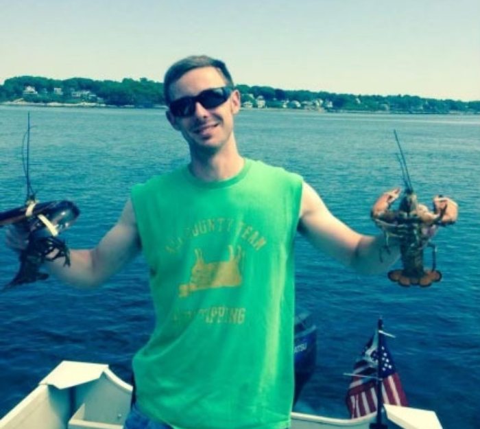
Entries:
[[70,266],[64,259],[45,263],[49,272],[72,286],[93,288],[104,283],[130,262],[140,251],[139,232],[131,200],[125,204],[117,224],[95,248],[71,250]]

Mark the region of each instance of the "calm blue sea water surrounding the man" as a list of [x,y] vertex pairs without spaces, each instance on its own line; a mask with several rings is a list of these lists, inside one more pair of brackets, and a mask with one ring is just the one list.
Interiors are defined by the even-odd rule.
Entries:
[[[25,199],[28,111],[32,185],[40,200],[71,199],[80,207],[64,234],[75,248],[96,244],[134,183],[188,158],[161,110],[0,106],[0,211]],[[299,237],[298,303],[319,328],[317,371],[302,399],[317,413],[347,416],[349,380],[342,374],[383,316],[396,335],[388,344],[409,404],[435,410],[445,429],[479,428],[480,117],[296,111],[237,117],[244,155],[302,174],[335,215],[364,233],[377,232],[369,218],[376,197],[402,185],[393,130],[420,200],[430,204],[433,195],[446,194],[459,203],[457,224],[435,237],[444,278],[431,288],[401,288],[385,275],[352,273]],[[0,246],[1,282],[16,269],[16,257]],[[132,355],[153,325],[146,273],[139,258],[98,290],[49,279],[1,293],[0,416],[61,360],[109,363],[129,380]]]

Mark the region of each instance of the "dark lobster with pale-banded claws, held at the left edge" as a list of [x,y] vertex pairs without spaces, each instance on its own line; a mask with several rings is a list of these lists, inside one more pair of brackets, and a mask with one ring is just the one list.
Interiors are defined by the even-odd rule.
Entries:
[[[70,264],[69,248],[58,235],[71,226],[79,216],[80,210],[73,202],[50,201],[37,202],[29,183],[28,153],[29,153],[30,117],[28,115],[27,165],[24,170],[27,179],[27,199],[23,207],[17,207],[0,213],[0,227],[14,225],[23,230],[27,246],[19,255],[20,268],[14,279],[5,285],[4,289],[12,288],[22,283],[33,283],[45,280],[47,273],[40,272],[40,266],[45,261],[53,261],[64,257],[64,264]],[[25,143],[24,137],[24,143]]]

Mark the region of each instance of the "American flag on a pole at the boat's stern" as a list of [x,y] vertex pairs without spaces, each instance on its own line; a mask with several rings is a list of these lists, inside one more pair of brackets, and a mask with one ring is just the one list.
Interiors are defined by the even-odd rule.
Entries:
[[[346,396],[346,404],[352,419],[376,411],[376,379],[379,364],[378,342],[379,334],[375,332],[374,336],[365,345],[360,358],[353,367],[352,380]],[[387,349],[385,337],[382,338],[381,353],[383,404],[407,406],[407,398],[403,392],[398,373],[396,373],[392,355],[390,355]]]

